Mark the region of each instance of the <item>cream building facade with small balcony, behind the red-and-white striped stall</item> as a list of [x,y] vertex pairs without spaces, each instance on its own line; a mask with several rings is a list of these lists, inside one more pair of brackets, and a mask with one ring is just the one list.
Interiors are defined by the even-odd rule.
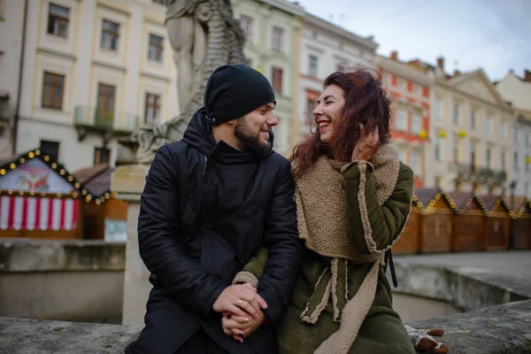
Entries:
[[179,113],[163,3],[31,2],[16,152],[41,147],[71,171],[113,165],[119,137]]

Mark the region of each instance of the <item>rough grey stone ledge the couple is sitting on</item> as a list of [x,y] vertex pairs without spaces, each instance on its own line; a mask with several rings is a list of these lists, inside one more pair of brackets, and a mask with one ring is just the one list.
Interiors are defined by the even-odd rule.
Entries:
[[[531,353],[531,300],[411,323],[443,327],[451,354]],[[0,318],[0,352],[123,353],[141,327]]]

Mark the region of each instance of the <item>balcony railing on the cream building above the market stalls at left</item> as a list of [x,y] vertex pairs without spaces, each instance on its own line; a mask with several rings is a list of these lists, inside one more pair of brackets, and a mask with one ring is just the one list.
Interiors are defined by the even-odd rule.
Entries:
[[128,112],[104,111],[99,108],[76,106],[73,124],[102,131],[131,133],[138,128],[138,116]]

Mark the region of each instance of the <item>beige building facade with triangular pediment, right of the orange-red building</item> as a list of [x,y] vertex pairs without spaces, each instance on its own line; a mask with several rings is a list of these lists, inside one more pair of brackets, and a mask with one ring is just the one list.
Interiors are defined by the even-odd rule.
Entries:
[[482,69],[435,68],[430,144],[435,186],[446,191],[508,194],[512,181],[513,110]]

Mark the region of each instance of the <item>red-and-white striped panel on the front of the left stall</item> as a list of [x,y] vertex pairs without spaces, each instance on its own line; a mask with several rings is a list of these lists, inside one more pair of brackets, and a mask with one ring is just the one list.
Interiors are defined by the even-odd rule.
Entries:
[[78,206],[72,198],[0,196],[0,230],[73,230]]

